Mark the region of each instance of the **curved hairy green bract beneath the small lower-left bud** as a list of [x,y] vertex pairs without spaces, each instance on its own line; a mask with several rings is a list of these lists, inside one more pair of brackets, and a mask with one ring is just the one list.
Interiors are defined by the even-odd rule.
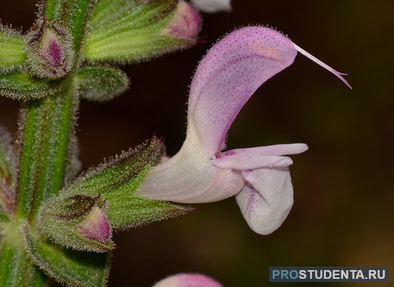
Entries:
[[26,248],[33,261],[47,275],[69,287],[106,286],[111,253],[67,249],[23,228]]

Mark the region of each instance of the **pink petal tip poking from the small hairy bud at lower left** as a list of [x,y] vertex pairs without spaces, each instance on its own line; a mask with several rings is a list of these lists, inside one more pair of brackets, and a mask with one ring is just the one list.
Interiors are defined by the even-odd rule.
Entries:
[[95,206],[84,222],[79,226],[83,236],[87,239],[106,242],[110,239],[111,228],[105,214]]

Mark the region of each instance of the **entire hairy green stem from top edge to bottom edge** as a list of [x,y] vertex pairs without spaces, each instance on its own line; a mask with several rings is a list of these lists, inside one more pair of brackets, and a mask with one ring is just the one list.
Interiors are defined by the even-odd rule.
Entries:
[[[47,0],[45,16],[67,25],[74,37],[76,55],[84,35],[92,0]],[[43,201],[63,184],[70,140],[78,111],[73,76],[78,65],[53,96],[29,101],[19,119],[19,180],[13,219],[3,223],[0,242],[0,287],[43,287],[44,275],[26,253],[18,226],[26,220],[37,230],[36,214]],[[1,235],[1,234],[0,234]]]

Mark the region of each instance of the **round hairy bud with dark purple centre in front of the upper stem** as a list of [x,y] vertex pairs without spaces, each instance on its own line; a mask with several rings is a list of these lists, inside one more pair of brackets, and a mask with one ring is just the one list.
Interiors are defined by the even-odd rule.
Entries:
[[30,72],[38,78],[61,78],[73,66],[74,49],[70,31],[46,17],[30,28],[25,49]]

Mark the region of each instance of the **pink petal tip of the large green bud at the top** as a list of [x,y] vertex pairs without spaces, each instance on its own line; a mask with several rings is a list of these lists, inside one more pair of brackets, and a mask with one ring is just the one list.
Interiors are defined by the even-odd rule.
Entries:
[[163,33],[176,38],[195,42],[196,35],[201,28],[201,17],[197,10],[190,4],[181,0],[178,3],[174,16]]

